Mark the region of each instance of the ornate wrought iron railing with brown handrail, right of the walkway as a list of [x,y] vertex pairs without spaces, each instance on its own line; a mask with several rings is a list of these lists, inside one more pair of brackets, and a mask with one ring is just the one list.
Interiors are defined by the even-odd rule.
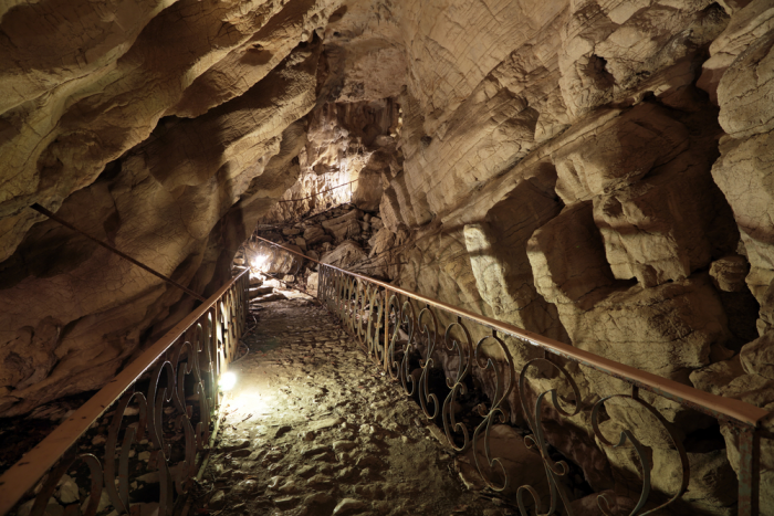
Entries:
[[[282,248],[269,240],[268,244]],[[568,472],[564,460],[556,460],[550,450],[550,443],[543,428],[543,418],[551,401],[555,414],[559,418],[578,417],[582,412],[588,418],[594,436],[602,447],[620,447],[630,445],[640,464],[641,492],[639,499],[632,501],[630,515],[644,515],[658,512],[674,504],[686,493],[690,481],[688,453],[680,439],[677,427],[662,412],[695,411],[728,425],[735,434],[740,451],[736,467],[739,480],[738,514],[751,516],[759,514],[760,453],[761,438],[772,436],[761,428],[762,420],[768,412],[740,400],[724,398],[701,391],[693,387],[639,370],[605,357],[585,351],[512,325],[491,319],[405,288],[390,285],[367,276],[355,274],[330,264],[321,263],[295,251],[282,248],[305,260],[318,264],[317,297],[356,337],[379,367],[400,385],[409,396],[418,396],[421,409],[428,419],[441,415],[443,432],[448,444],[463,452],[470,446],[480,450],[483,444],[484,461],[473,453],[475,466],[489,488],[500,492],[509,486],[510,478],[500,457],[491,455],[490,430],[496,419],[504,420],[510,394],[517,382],[519,407],[511,410],[522,411],[523,420],[531,433],[525,438],[527,447],[538,453],[545,466],[550,486],[550,507],[543,512],[538,494],[530,485],[517,486],[516,502],[522,515],[526,516],[527,506],[534,504],[536,514],[555,514],[557,510],[572,514],[569,496],[563,481]],[[441,325],[446,319],[447,324]],[[443,328],[441,330],[441,328]],[[485,334],[484,334],[485,331]],[[472,335],[483,334],[473,339]],[[511,349],[505,339],[516,346],[536,351],[540,356],[523,360],[516,370]],[[442,403],[429,387],[433,357],[440,347],[454,356],[456,372],[447,375],[447,394]],[[529,355],[529,352],[527,352]],[[597,371],[613,380],[620,380],[618,392],[596,396],[593,401],[584,399],[575,376],[568,372],[571,367],[583,367],[586,371]],[[478,369],[478,371],[475,371]],[[532,369],[532,371],[530,371]],[[417,375],[417,371],[421,372]],[[530,382],[530,375],[541,370],[543,378],[553,378],[552,388],[536,391]],[[414,372],[414,375],[412,375]],[[494,389],[490,389],[488,407],[483,409],[474,429],[469,429],[458,419],[452,410],[458,397],[469,390],[470,377],[494,377]],[[533,375],[534,376],[534,375]],[[565,393],[566,396],[563,396]],[[681,477],[672,486],[671,493],[653,493],[650,472],[653,466],[647,445],[638,439],[637,428],[620,431],[615,440],[600,431],[599,423],[606,409],[618,403],[628,403],[630,410],[639,410],[640,417],[652,418],[661,425],[665,435],[671,440],[671,447],[680,461]],[[671,404],[670,404],[671,403]],[[645,419],[644,418],[644,419]],[[470,436],[472,430],[472,438]],[[496,472],[500,472],[499,474]],[[653,496],[656,495],[656,496]],[[559,508],[559,504],[563,508]],[[597,499],[603,514],[610,512],[610,501],[605,495]],[[684,510],[684,508],[682,509]]]

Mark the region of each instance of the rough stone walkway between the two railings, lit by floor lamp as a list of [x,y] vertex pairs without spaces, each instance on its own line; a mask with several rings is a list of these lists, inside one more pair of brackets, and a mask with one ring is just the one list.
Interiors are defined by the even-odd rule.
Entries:
[[264,306],[250,354],[231,368],[238,382],[195,510],[511,514],[464,488],[419,407],[325,308]]

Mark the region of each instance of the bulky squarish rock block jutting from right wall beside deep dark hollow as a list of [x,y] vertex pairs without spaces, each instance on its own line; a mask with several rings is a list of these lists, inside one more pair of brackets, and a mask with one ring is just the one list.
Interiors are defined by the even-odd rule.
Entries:
[[[703,157],[686,154],[648,178],[594,198],[594,219],[619,280],[646,287],[704,268],[715,249],[735,245],[731,211]],[[692,191],[686,198],[686,191]]]

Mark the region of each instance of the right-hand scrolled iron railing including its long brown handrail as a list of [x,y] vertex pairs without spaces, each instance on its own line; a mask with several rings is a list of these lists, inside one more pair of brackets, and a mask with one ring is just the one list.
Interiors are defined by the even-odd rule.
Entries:
[[[260,238],[259,238],[260,239]],[[261,239],[264,240],[264,239]],[[266,241],[269,242],[269,241]],[[278,244],[272,243],[276,248]],[[286,250],[287,252],[301,254],[295,251]],[[306,256],[305,256],[306,257]],[[307,260],[311,260],[306,257]],[[312,260],[314,262],[314,260]],[[380,298],[383,303],[383,317],[384,317],[384,336],[381,341],[384,343],[383,356],[380,357],[380,365],[385,371],[390,376],[390,378],[398,382],[407,396],[412,396],[415,392],[419,393],[419,403],[425,411],[425,414],[429,418],[437,415],[438,412],[438,399],[435,394],[430,392],[428,385],[428,376],[430,368],[433,366],[432,354],[435,351],[436,338],[438,338],[438,319],[439,316],[436,310],[441,310],[443,316],[448,316],[450,319],[456,319],[456,323],[449,324],[444,334],[444,348],[446,351],[456,352],[458,360],[460,360],[457,375],[452,375],[452,378],[447,378],[447,387],[450,392],[441,407],[441,414],[443,421],[443,430],[449,441],[449,445],[458,451],[464,451],[469,447],[470,442],[468,438],[468,428],[458,422],[454,419],[454,413],[452,404],[456,401],[458,394],[466,396],[467,387],[463,380],[469,375],[472,365],[475,365],[479,369],[492,369],[496,377],[496,386],[493,398],[491,399],[491,408],[484,415],[483,422],[481,422],[477,428],[472,436],[473,447],[477,445],[477,441],[483,439],[485,456],[488,461],[488,467],[491,470],[493,466],[500,464],[496,457],[490,456],[489,450],[489,430],[494,421],[495,417],[500,417],[501,420],[505,420],[505,404],[511,401],[508,400],[508,394],[512,388],[513,379],[516,378],[516,372],[513,369],[513,361],[511,359],[509,348],[504,345],[502,339],[499,337],[498,333],[503,336],[510,336],[521,343],[523,346],[536,346],[540,351],[542,351],[542,358],[533,359],[527,361],[521,371],[519,378],[519,399],[525,411],[526,422],[533,430],[533,434],[526,438],[526,441],[531,443],[532,447],[538,452],[544,460],[546,474],[550,478],[550,487],[552,494],[552,507],[548,514],[558,510],[558,503],[565,505],[565,512],[571,513],[568,507],[568,495],[564,491],[564,486],[558,482],[558,477],[566,473],[565,462],[553,462],[547,455],[548,442],[546,441],[545,434],[542,429],[542,412],[541,403],[547,398],[552,401],[554,409],[562,417],[572,418],[577,414],[580,410],[590,410],[592,420],[596,421],[594,423],[595,433],[598,432],[598,417],[602,411],[602,407],[605,401],[611,398],[626,398],[634,402],[635,404],[642,408],[646,412],[649,412],[656,418],[659,423],[665,427],[667,433],[672,439],[672,449],[677,450],[680,455],[680,461],[682,465],[682,480],[680,485],[676,487],[670,499],[657,507],[663,507],[665,505],[672,504],[678,497],[686,492],[690,468],[688,464],[688,456],[682,443],[676,438],[676,433],[672,432],[671,423],[669,423],[666,418],[653,408],[651,403],[642,398],[642,392],[646,391],[649,396],[659,396],[668,400],[677,401],[681,403],[687,409],[694,409],[704,414],[709,414],[715,419],[721,419],[723,421],[731,421],[736,428],[739,428],[740,434],[740,446],[742,452],[742,465],[739,472],[740,477],[740,497],[739,497],[739,514],[744,516],[757,516],[759,514],[759,483],[760,483],[760,434],[757,433],[756,427],[757,422],[767,415],[767,411],[749,403],[744,403],[739,400],[721,398],[718,396],[710,394],[708,392],[699,391],[692,387],[668,380],[649,372],[641,371],[639,369],[625,366],[623,364],[615,362],[613,360],[606,359],[593,355],[588,351],[584,351],[579,348],[568,346],[563,343],[558,343],[540,335],[535,335],[531,331],[524,330],[522,328],[516,328],[514,326],[508,325],[502,322],[498,322],[478,314],[470,313],[446,303],[439,302],[437,299],[422,296],[420,294],[384,283],[377,280],[369,278],[359,274],[351,273],[343,268],[335,267],[328,264],[320,264],[320,289],[318,297],[323,303],[328,306],[332,314],[337,316],[342,324],[351,330],[351,333],[358,339],[362,335],[362,326],[358,327],[357,324],[363,325],[363,317],[368,317],[368,327],[366,329],[366,352],[372,354],[376,349],[376,338],[378,336],[378,326],[375,327],[374,334],[372,334],[370,323],[374,317],[376,303],[373,301],[374,297],[369,295],[368,288],[380,288],[384,293],[384,298]],[[353,284],[357,283],[358,287],[353,288]],[[360,286],[360,285],[368,285]],[[365,292],[365,294],[363,294]],[[419,316],[416,316],[415,303],[418,306],[423,306]],[[369,304],[369,310],[366,310],[366,306]],[[381,305],[379,306],[381,308]],[[359,318],[358,318],[359,317]],[[381,319],[381,316],[379,317]],[[432,320],[430,329],[428,320]],[[470,322],[478,324],[484,328],[492,331],[492,335],[485,337],[477,344],[473,348],[470,340],[470,333],[464,326],[463,322]],[[359,323],[356,323],[359,322]],[[408,338],[405,345],[401,345],[402,340],[399,338],[401,327],[405,328]],[[458,341],[452,338],[450,341],[450,331],[453,328],[461,328],[464,334],[464,341]],[[369,340],[372,339],[373,340]],[[482,344],[488,339],[492,339],[495,345],[504,354],[504,365],[501,361],[493,360],[491,357],[487,358],[487,362],[482,364],[481,359],[483,356]],[[412,347],[426,352],[425,358],[420,361],[421,376],[418,379],[419,389],[415,385],[415,378],[411,376],[410,368],[410,354]],[[475,351],[475,358],[473,359],[472,352]],[[402,352],[402,355],[400,355]],[[467,358],[466,358],[466,352]],[[619,378],[627,381],[631,386],[629,393],[620,393],[607,397],[599,400],[593,407],[583,407],[579,399],[579,391],[573,377],[567,373],[563,366],[559,365],[561,360],[558,357],[563,357],[565,360],[569,360],[577,365],[595,369],[602,373],[608,375],[614,378]],[[377,357],[379,358],[379,357]],[[555,389],[545,392],[536,393],[537,396],[537,407],[534,411],[527,410],[527,400],[525,394],[530,391],[527,386],[527,378],[525,376],[525,370],[527,367],[532,367],[537,362],[543,362],[547,368],[555,368],[559,371],[559,376],[568,381],[575,399],[565,399],[561,397]],[[501,368],[505,375],[509,376],[509,381],[504,382],[501,375]],[[511,387],[508,387],[511,386]],[[649,398],[648,398],[649,399]],[[435,403],[433,412],[429,411],[429,403]],[[573,402],[572,410],[567,411],[559,403],[565,403],[565,406]],[[463,445],[460,447],[454,442],[454,434],[463,439]],[[602,433],[597,433],[597,439],[602,443],[606,443],[610,446],[623,445],[624,442],[635,443],[635,449],[639,450],[639,443],[635,440],[634,433],[626,431],[621,434],[621,438],[617,444],[608,442]],[[649,514],[653,509],[644,513],[645,503],[648,498],[648,494],[651,491],[649,482],[649,463],[645,453],[640,450],[640,460],[642,462],[642,492],[640,493],[640,501],[632,514]],[[477,460],[477,465],[479,471],[481,471],[481,464],[478,464],[478,456],[474,455]],[[503,472],[504,473],[504,472]],[[484,472],[481,471],[482,477],[487,484],[494,489],[504,489],[508,485],[508,478],[503,485],[491,483]],[[521,486],[517,491],[517,498],[520,510],[522,514],[526,514],[526,508],[524,507],[524,495],[530,493],[535,502],[538,502],[538,495],[534,488],[530,486]],[[599,499],[600,509],[605,514],[609,514],[608,501],[607,498],[600,497]]]

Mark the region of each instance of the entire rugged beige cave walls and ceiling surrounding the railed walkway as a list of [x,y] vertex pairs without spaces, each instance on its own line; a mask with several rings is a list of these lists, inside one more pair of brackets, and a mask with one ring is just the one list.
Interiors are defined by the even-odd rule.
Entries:
[[771,381],[730,364],[774,325],[770,1],[65,3],[0,8],[0,414],[101,387],[194,304],[35,202],[203,295],[259,220],[352,202],[406,287]]

